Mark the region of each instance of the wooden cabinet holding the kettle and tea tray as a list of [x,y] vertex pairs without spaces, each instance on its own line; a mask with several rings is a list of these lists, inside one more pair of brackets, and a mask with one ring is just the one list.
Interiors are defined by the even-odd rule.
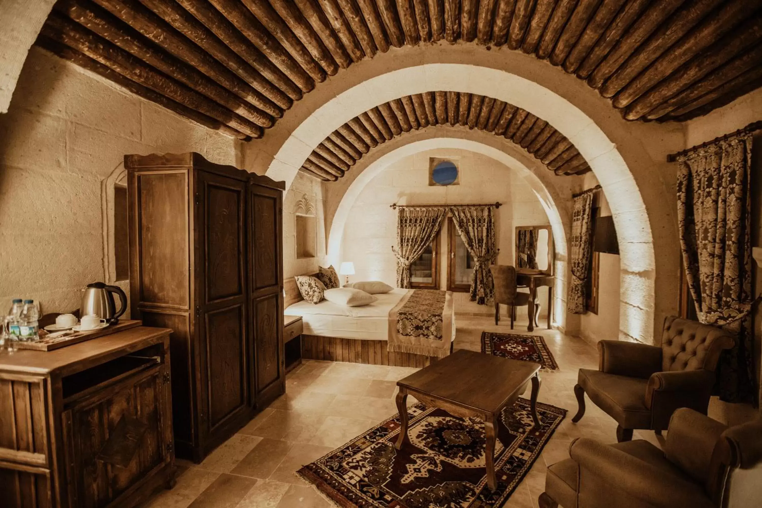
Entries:
[[0,506],[136,506],[174,482],[169,330],[0,353]]

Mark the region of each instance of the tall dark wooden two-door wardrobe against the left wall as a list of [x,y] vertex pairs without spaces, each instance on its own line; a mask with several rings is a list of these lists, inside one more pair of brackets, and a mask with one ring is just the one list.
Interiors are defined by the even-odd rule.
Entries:
[[285,391],[285,184],[195,152],[124,167],[132,317],[173,330],[176,452],[200,462]]

